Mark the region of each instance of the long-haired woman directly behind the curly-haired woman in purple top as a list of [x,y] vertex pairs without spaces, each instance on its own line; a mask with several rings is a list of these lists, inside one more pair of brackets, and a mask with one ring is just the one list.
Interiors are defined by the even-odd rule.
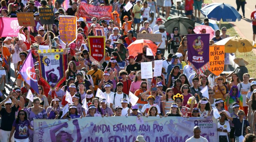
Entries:
[[[38,91],[39,91],[39,94],[36,93],[34,97],[37,97],[38,99],[40,99],[39,107],[42,107],[46,110],[49,107],[49,103],[48,103],[47,97],[44,95],[44,87],[41,85],[38,85]],[[29,101],[28,108],[30,108],[33,105],[34,103]]]

